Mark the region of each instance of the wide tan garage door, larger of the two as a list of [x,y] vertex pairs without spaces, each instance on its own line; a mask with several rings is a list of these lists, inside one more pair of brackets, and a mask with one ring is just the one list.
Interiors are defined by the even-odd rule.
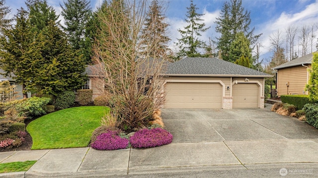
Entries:
[[222,108],[220,83],[168,82],[164,108]]

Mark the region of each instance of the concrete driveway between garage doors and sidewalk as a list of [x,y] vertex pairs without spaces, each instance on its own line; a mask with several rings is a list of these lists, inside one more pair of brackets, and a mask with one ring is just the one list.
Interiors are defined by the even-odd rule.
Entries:
[[163,109],[161,117],[173,143],[309,139],[318,129],[265,109]]

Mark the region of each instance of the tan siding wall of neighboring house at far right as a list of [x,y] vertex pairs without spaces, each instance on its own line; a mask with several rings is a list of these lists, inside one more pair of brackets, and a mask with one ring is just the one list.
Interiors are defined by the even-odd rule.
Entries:
[[[278,69],[277,95],[303,94],[307,79],[307,67],[299,65]],[[288,87],[287,82],[289,82]]]

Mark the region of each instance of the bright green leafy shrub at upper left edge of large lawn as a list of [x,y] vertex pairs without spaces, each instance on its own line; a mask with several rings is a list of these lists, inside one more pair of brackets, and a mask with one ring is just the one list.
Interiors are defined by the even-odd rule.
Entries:
[[51,101],[50,98],[31,97],[25,102],[18,105],[19,110],[26,113],[28,116],[45,115],[46,112],[43,109]]

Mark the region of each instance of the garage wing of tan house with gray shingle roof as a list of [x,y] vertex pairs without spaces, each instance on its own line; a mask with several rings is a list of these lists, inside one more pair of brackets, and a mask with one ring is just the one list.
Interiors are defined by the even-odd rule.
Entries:
[[163,108],[264,108],[272,75],[217,58],[185,58],[163,74]]

